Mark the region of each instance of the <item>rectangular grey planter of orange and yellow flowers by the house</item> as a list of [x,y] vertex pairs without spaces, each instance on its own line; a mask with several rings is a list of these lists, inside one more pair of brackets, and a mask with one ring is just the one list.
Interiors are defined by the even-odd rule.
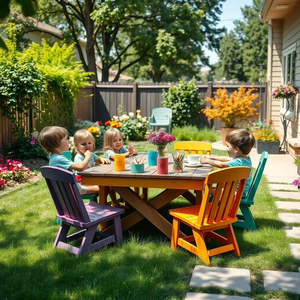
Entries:
[[262,128],[256,128],[252,133],[256,140],[258,154],[262,154],[264,151],[268,154],[279,153],[280,137],[277,131],[272,128],[272,122]]

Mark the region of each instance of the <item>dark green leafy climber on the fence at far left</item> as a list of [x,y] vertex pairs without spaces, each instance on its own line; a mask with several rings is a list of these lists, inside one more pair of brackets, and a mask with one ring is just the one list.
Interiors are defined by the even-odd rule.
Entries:
[[8,30],[6,40],[9,49],[0,49],[0,107],[2,116],[14,124],[16,137],[24,136],[24,118],[33,110],[38,110],[33,99],[45,92],[45,78],[36,66],[36,58],[16,51],[16,38],[13,27]]

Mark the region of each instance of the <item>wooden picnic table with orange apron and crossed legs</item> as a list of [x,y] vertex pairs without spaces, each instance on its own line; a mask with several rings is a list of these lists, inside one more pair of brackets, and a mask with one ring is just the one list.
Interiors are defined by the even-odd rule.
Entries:
[[[148,165],[148,154],[141,153],[138,158],[145,158],[145,172],[131,173],[129,158],[125,159],[125,171],[115,171],[114,162],[111,164],[100,164],[78,173],[82,176],[82,184],[99,186],[99,202],[107,204],[108,186],[115,190],[136,210],[122,219],[122,230],[130,228],[144,217],[160,229],[169,238],[172,236],[172,224],[166,220],[158,209],[170,203],[173,199],[182,195],[193,205],[201,203],[204,180],[207,173],[213,167],[203,165],[202,167],[184,167],[182,173],[173,172],[173,157],[169,158],[169,173],[167,175],[157,174],[157,166]],[[135,187],[134,190],[131,187]],[[140,187],[142,194],[140,195]],[[148,201],[148,188],[164,189],[159,195]],[[189,190],[195,190],[196,196]],[[112,232],[113,226],[106,228],[101,224],[104,232]],[[183,236],[184,234],[181,233]]]

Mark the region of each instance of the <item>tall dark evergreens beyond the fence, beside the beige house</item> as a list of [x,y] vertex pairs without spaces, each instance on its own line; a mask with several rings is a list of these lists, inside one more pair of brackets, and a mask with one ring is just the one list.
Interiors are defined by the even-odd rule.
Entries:
[[228,39],[229,35],[221,41],[218,71],[227,80],[258,81],[259,64],[267,64],[268,26],[259,21],[262,2],[253,0],[253,5],[241,8],[244,20],[235,21],[235,28],[230,33],[232,41]]

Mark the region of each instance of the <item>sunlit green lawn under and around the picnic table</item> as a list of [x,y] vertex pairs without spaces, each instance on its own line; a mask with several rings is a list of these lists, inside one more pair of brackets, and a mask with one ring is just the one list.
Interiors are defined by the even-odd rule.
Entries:
[[[155,146],[142,143],[135,148],[146,152]],[[226,155],[224,151],[213,153]],[[151,189],[149,197],[160,191]],[[184,205],[189,202],[179,197],[160,212],[172,221],[168,209]],[[109,245],[82,257],[53,250],[58,231],[53,201],[44,179],[29,183],[1,196],[0,299],[182,300],[186,292],[200,291],[255,300],[299,299],[299,294],[263,290],[263,270],[297,271],[300,266],[289,249],[289,243],[300,243],[300,239],[286,237],[264,176],[251,211],[258,230],[235,228],[241,256],[223,253],[211,257],[211,266],[249,269],[251,292],[198,288],[189,282],[195,265],[203,262],[180,247],[172,250],[170,240],[147,220],[126,231],[121,245]]]

